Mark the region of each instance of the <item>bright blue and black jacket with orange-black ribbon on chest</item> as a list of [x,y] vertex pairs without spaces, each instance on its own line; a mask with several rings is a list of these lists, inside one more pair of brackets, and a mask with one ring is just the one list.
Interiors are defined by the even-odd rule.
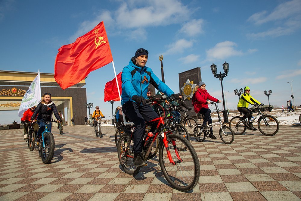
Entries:
[[146,98],[149,84],[152,84],[157,90],[163,92],[167,96],[171,96],[174,93],[164,82],[159,80],[151,68],[146,66],[138,67],[134,64],[134,61],[134,58],[132,58],[129,65],[122,70],[122,105],[128,101],[133,101],[132,97],[135,95]]

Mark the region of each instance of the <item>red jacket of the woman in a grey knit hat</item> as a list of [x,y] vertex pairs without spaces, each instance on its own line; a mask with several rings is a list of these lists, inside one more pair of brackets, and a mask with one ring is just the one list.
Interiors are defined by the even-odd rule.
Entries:
[[198,90],[195,92],[194,95],[194,105],[193,105],[194,111],[196,113],[198,113],[201,108],[208,108],[208,104],[206,103],[207,99],[213,102],[217,102],[219,100],[210,96],[207,90],[202,90],[198,88]]

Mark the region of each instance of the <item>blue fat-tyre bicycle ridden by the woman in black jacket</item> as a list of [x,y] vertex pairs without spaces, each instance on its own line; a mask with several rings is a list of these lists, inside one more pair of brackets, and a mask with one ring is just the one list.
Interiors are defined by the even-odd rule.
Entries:
[[38,149],[39,149],[39,157],[41,157],[42,162],[47,164],[50,163],[53,154],[54,154],[54,137],[53,134],[49,132],[47,124],[51,122],[57,121],[43,121],[43,120],[36,120],[45,122],[45,130],[42,132],[41,136],[39,137]]

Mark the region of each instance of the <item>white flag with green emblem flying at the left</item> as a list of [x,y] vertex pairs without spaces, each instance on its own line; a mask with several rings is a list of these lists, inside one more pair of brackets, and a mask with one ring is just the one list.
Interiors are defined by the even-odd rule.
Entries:
[[23,117],[23,113],[33,106],[37,106],[41,101],[41,83],[40,83],[40,70],[37,77],[30,84],[29,89],[23,96],[18,116]]

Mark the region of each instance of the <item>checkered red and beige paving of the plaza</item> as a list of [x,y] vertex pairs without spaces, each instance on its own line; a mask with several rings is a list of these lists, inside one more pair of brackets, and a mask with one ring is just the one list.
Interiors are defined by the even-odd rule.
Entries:
[[[192,137],[200,180],[189,193],[167,183],[158,158],[135,177],[119,168],[114,127],[95,137],[92,127],[53,128],[54,158],[44,164],[30,152],[23,129],[0,131],[0,200],[300,200],[301,127],[280,126],[275,136],[258,130],[231,145]],[[218,133],[217,127],[214,133]],[[217,134],[216,134],[217,136]]]

